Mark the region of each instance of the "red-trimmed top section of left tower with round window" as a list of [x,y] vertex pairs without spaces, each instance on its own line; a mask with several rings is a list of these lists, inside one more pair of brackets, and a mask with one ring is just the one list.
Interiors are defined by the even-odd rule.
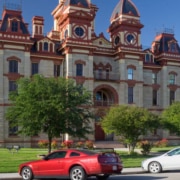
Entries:
[[96,11],[96,6],[90,0],[59,1],[52,15],[54,30],[60,32],[60,41],[90,42]]

